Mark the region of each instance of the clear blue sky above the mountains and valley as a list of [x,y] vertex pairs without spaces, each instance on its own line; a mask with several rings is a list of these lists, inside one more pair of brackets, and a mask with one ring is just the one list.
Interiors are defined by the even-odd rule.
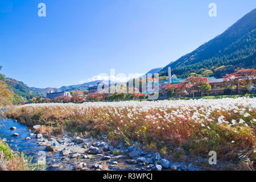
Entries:
[[[38,4],[46,3],[46,17]],[[217,5],[217,17],[208,5]],[[256,7],[255,0],[1,0],[0,65],[38,88],[100,73],[146,73],[193,51]]]

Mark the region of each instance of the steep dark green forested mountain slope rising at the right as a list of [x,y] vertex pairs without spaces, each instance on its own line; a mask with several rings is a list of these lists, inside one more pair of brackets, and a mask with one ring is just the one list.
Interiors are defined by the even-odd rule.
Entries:
[[[191,53],[171,62],[160,71],[167,76],[167,67],[178,77],[187,77],[201,68],[211,69],[216,77],[239,68],[255,68],[256,9],[243,16],[221,35],[203,44]],[[221,73],[218,67],[221,67]]]

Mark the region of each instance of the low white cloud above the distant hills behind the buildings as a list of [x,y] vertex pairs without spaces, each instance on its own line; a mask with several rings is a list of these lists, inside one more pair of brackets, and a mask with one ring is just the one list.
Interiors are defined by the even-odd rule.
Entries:
[[93,76],[93,77],[88,78],[86,80],[80,80],[79,83],[83,84],[83,83],[86,83],[86,82],[91,82],[91,81],[96,81],[96,80],[107,80],[108,81],[108,80],[110,80],[110,78],[111,78],[111,81],[119,83],[119,82],[127,82],[131,78],[138,78],[138,77],[143,76],[143,75],[145,75],[145,73],[129,73],[128,76],[123,74],[123,73],[119,73],[116,76],[108,76],[105,73],[101,73],[99,75]]

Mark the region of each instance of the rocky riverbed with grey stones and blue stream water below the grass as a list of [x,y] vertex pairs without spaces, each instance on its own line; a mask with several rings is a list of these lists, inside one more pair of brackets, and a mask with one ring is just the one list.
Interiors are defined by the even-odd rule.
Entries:
[[[28,128],[13,119],[0,119],[0,137],[13,150],[23,151],[33,157],[34,163],[45,164],[46,170],[200,170],[188,162],[174,162],[164,159],[157,152],[147,152],[134,142],[127,146],[124,142],[101,139],[80,138],[63,135],[46,138],[36,133],[40,125]],[[177,150],[183,150],[177,148]]]

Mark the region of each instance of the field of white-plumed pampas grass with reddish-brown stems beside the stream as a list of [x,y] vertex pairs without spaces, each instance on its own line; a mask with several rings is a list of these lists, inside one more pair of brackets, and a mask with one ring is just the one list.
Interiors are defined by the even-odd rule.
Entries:
[[[189,158],[204,160],[213,150],[221,163],[232,161],[233,169],[250,169],[255,159],[255,103],[255,98],[223,98],[32,104],[14,107],[6,116],[30,126],[42,125],[38,132],[47,137],[66,131],[82,138],[100,139],[105,134],[107,142],[131,146],[137,141],[146,152],[181,161],[185,160],[181,150]],[[204,165],[208,166],[206,160]]]

